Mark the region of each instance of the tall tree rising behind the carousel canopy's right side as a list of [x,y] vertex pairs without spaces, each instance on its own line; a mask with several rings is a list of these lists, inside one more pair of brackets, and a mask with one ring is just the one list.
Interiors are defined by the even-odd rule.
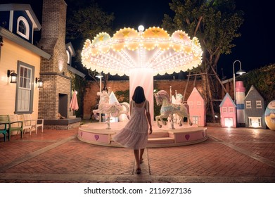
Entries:
[[[200,40],[203,63],[193,72],[207,74],[201,75],[204,84],[203,95],[215,122],[212,99],[218,95],[217,81],[220,82],[215,70],[219,57],[231,53],[235,46],[232,42],[241,36],[238,30],[243,24],[243,12],[236,11],[234,0],[172,0],[170,8],[175,13],[174,18],[165,14],[162,27],[169,32],[185,30],[189,36],[196,36]],[[215,76],[217,81],[213,80],[212,76]],[[224,89],[223,85],[222,88]]]

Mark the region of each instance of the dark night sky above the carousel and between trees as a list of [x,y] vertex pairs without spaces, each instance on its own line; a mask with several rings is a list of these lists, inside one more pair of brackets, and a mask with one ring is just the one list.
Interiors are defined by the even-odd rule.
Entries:
[[[122,27],[134,27],[137,29],[141,24],[145,28],[160,26],[163,15],[165,13],[173,13],[168,4],[171,1],[98,0],[97,2],[103,11],[115,13],[113,27],[115,30],[120,30]],[[1,0],[0,2],[1,4],[31,4],[41,23],[41,0]],[[233,77],[233,63],[235,60],[241,61],[243,70],[247,72],[275,63],[275,39],[274,31],[272,31],[274,29],[274,15],[272,15],[274,8],[270,2],[272,1],[236,1],[237,9],[245,13],[245,21],[240,30],[242,36],[234,40],[236,46],[232,49],[232,53],[222,55],[219,59],[217,70],[220,77],[222,77],[222,74],[227,76],[227,78]],[[235,70],[238,70],[238,65],[235,66]]]

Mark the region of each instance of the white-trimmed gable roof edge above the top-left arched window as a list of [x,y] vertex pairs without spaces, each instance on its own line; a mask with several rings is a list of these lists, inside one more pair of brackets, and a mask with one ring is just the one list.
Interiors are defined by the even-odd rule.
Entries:
[[0,11],[26,11],[30,20],[32,20],[34,30],[39,31],[41,29],[41,24],[39,23],[37,16],[34,14],[30,4],[1,4]]

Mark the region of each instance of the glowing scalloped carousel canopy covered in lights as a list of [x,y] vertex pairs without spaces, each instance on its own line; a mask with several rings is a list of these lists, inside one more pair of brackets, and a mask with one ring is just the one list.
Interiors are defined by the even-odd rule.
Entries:
[[135,68],[149,68],[153,75],[165,75],[197,67],[202,54],[198,39],[190,39],[181,30],[170,37],[160,27],[139,32],[124,28],[113,37],[102,32],[92,42],[87,39],[82,50],[82,64],[110,75],[129,75]]

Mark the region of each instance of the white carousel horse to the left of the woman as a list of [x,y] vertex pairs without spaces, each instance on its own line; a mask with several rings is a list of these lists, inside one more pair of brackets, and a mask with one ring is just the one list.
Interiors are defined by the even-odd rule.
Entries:
[[[110,122],[109,122],[109,117],[112,115],[113,117],[119,117],[122,114],[126,114],[127,116],[129,115],[129,103],[123,102],[123,103],[109,103],[109,94],[106,91],[98,92],[98,96],[100,96],[99,104],[98,104],[98,109],[93,110],[94,115],[96,113],[105,113],[107,118],[106,118],[106,123],[108,125],[108,129],[110,129]],[[124,107],[126,110],[124,110]]]

